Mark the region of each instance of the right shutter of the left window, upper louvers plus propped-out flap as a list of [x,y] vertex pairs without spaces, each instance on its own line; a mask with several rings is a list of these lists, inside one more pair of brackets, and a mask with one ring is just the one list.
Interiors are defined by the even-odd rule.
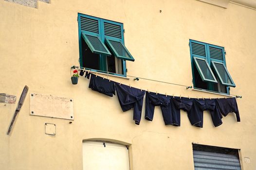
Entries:
[[124,45],[123,25],[104,20],[104,36],[110,51],[116,58],[134,61],[134,58]]

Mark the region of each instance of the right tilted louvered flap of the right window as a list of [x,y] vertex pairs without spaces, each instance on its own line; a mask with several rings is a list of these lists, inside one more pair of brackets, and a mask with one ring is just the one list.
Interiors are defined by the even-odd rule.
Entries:
[[212,66],[215,72],[217,73],[222,85],[227,85],[232,87],[236,86],[224,63],[212,61]]

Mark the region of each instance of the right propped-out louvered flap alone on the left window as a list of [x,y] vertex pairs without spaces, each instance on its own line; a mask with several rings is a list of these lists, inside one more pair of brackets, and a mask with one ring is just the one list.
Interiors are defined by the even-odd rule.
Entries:
[[134,61],[134,58],[121,41],[106,38],[106,42],[110,47],[110,50],[114,53],[114,55],[117,58],[128,61]]

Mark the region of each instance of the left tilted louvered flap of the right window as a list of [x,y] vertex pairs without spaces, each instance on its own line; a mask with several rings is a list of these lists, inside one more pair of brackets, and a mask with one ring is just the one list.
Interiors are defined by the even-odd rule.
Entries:
[[196,68],[204,82],[218,83],[206,59],[193,57]]

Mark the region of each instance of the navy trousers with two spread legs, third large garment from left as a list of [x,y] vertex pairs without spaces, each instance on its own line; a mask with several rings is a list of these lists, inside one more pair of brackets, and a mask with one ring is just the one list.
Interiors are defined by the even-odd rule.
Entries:
[[170,100],[170,96],[159,93],[156,94],[154,92],[146,92],[146,120],[153,120],[155,106],[161,107],[165,125],[180,126],[179,109],[175,108],[173,102]]

